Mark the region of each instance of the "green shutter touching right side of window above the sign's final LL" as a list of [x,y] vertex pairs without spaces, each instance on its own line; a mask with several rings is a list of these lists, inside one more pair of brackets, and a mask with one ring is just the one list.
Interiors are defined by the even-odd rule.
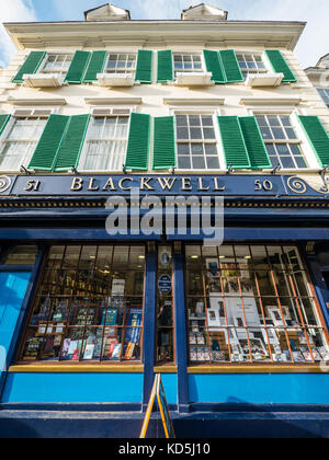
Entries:
[[218,116],[219,133],[226,159],[226,166],[250,169],[247,146],[237,116]]

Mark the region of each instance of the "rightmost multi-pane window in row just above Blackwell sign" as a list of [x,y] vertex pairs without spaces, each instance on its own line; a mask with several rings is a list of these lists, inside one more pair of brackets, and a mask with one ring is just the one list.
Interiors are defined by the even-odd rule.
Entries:
[[292,119],[287,115],[258,115],[258,124],[273,168],[307,168]]

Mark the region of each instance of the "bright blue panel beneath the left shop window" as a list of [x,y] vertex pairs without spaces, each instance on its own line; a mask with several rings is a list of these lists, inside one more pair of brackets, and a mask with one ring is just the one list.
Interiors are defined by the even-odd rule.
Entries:
[[9,373],[2,403],[140,403],[143,373]]

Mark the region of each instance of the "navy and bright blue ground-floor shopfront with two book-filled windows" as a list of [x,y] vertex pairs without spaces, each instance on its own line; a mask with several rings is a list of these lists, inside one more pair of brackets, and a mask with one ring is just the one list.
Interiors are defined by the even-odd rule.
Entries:
[[[99,412],[99,422],[107,414],[107,436],[127,436],[127,426],[138,436],[160,372],[179,436],[216,437],[234,425],[237,436],[325,436],[326,195],[307,185],[302,197],[287,188],[281,195],[280,184],[291,183],[283,176],[262,179],[258,194],[259,177],[250,175],[245,187],[252,183],[253,193],[239,195],[237,176],[184,177],[192,191],[180,188],[183,195],[208,192],[211,182],[217,195],[227,193],[224,242],[204,244],[191,226],[178,235],[178,220],[170,234],[136,237],[129,225],[125,235],[110,235],[109,184],[121,180],[128,188],[136,176],[107,181],[107,191],[100,177],[90,180],[58,176],[57,193],[48,195],[55,188],[37,186],[45,176],[19,176],[12,196],[1,198],[0,426],[20,419],[41,434],[38,412],[65,407]],[[31,191],[18,194],[24,181]],[[156,181],[144,179],[150,195]],[[65,193],[65,183],[94,192]],[[59,419],[58,412],[56,421],[49,416],[45,429],[60,432]]]

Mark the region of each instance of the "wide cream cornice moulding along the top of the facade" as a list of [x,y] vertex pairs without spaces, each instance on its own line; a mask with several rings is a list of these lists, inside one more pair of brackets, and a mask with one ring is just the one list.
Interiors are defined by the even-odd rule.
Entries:
[[112,41],[183,41],[225,43],[227,46],[250,43],[293,50],[305,28],[303,22],[195,22],[195,21],[112,21],[7,23],[11,39],[19,49],[63,46],[92,47]]

